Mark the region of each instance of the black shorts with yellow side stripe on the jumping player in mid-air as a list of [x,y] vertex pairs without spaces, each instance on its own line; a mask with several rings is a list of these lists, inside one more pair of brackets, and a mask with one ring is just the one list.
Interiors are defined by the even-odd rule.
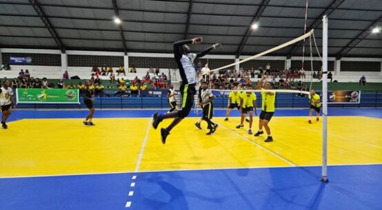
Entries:
[[178,112],[178,114],[179,117],[185,118],[188,114],[190,114],[197,89],[195,88],[195,84],[182,84],[180,91],[182,97],[182,109]]

